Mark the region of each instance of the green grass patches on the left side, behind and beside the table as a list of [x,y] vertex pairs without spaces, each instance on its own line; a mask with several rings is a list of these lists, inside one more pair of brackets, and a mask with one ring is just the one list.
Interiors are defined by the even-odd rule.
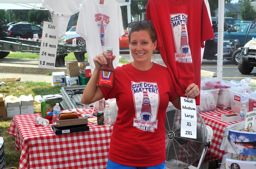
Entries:
[[[33,53],[16,53],[11,52],[7,58],[18,58],[18,59],[39,59],[38,54]],[[65,60],[76,60],[73,52],[69,53],[65,57]],[[85,54],[85,60],[88,60],[87,53]],[[119,59],[122,64],[129,63],[125,59]],[[16,96],[19,98],[21,95],[28,96],[32,94],[33,97],[36,95],[48,95],[48,94],[59,94],[61,86],[52,86],[51,83],[44,82],[6,82],[5,86],[0,86],[0,93],[5,93],[5,96]],[[60,101],[47,101],[47,111],[53,110],[56,103]],[[41,104],[34,101],[34,113],[41,112]],[[19,152],[15,149],[15,137],[8,134],[9,127],[12,119],[0,120],[0,137],[4,139],[4,151],[5,151],[5,162],[6,168],[19,168],[19,160],[21,156],[21,150]]]

